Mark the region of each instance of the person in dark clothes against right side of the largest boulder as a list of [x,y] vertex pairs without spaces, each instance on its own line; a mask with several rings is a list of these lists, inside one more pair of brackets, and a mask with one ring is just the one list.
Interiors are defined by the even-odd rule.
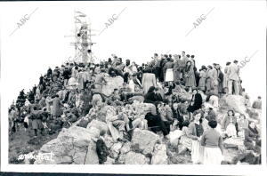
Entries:
[[99,164],[104,164],[109,156],[108,148],[105,144],[104,136],[106,131],[101,130],[100,137],[96,140],[96,153],[99,159]]

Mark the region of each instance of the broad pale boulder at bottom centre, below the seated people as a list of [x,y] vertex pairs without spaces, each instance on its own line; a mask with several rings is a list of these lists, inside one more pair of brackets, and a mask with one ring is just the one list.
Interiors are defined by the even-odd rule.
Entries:
[[148,130],[134,129],[132,144],[138,145],[144,155],[151,154],[159,136]]

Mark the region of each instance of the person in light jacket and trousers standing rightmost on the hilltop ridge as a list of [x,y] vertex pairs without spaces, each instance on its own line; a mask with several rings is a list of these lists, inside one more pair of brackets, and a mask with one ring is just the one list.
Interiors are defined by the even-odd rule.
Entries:
[[[229,94],[239,95],[239,67],[238,60],[234,60],[233,64],[229,67],[229,80],[228,80],[228,90]],[[234,90],[232,90],[234,86]],[[234,93],[233,93],[234,92]]]

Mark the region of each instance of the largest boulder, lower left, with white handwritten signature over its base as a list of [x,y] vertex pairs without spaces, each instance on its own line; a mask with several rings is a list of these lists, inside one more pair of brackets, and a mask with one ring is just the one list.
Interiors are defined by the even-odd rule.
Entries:
[[35,164],[84,164],[88,145],[93,138],[93,132],[72,126],[63,128],[58,137],[44,144],[39,155],[52,154],[52,160],[36,161]]

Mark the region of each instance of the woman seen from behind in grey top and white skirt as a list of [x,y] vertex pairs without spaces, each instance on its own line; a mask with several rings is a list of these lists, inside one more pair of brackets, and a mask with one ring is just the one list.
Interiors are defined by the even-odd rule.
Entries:
[[203,133],[200,140],[201,146],[204,147],[203,164],[221,164],[223,160],[223,138],[215,130],[216,121],[208,122],[210,129]]

